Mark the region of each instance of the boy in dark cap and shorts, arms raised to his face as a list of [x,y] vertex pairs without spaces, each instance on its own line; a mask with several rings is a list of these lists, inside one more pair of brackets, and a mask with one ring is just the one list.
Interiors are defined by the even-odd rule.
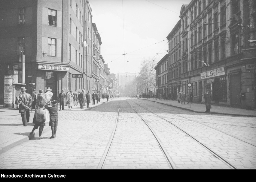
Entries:
[[58,103],[56,100],[53,100],[49,105],[45,105],[44,107],[48,109],[50,113],[49,126],[51,126],[52,130],[52,136],[50,138],[55,138],[58,126]]

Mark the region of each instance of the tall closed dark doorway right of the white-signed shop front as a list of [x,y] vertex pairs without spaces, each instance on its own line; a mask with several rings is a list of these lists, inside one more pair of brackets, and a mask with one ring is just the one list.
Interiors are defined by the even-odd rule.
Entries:
[[240,93],[240,74],[231,75],[231,104],[233,105],[240,105],[241,100],[239,98]]

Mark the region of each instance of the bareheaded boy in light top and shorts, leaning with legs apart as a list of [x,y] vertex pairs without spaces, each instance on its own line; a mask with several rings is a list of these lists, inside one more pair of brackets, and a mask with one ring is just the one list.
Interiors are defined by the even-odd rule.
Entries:
[[39,103],[38,107],[36,109],[36,121],[35,121],[35,126],[33,127],[32,131],[29,133],[30,135],[33,134],[33,132],[38,129],[39,126],[39,140],[43,139],[43,137],[41,137],[42,132],[44,131],[44,122],[46,120],[46,114],[45,111],[43,110],[45,103]]

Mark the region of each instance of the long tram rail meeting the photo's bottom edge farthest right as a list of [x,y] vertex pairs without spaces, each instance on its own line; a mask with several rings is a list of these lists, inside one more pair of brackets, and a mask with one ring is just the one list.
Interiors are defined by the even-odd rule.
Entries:
[[[131,99],[129,99],[131,100]],[[134,102],[133,100],[131,100],[133,103],[139,105],[138,103]],[[130,103],[129,103],[130,104]],[[145,110],[149,111],[148,109],[146,109],[145,107],[139,105],[140,107],[144,108]],[[132,107],[132,106],[131,106]],[[133,108],[134,109],[134,108]],[[181,129],[180,127],[176,126],[175,124],[173,124],[172,122],[164,119],[163,117],[159,116],[158,114],[155,114],[151,111],[149,111],[150,113],[156,115],[157,117],[159,117],[160,119],[170,123],[172,126],[175,126],[177,129],[179,129],[180,131],[182,131],[183,133],[185,133],[186,135],[188,135],[190,138],[192,138],[193,140],[195,140],[197,143],[199,143],[201,146],[203,146],[206,150],[208,150],[212,155],[214,155],[215,157],[217,157],[219,160],[221,160],[223,163],[225,163],[227,166],[229,166],[231,169],[237,169],[235,166],[233,166],[230,162],[228,162],[227,160],[225,160],[223,157],[221,157],[220,155],[218,155],[216,152],[214,152],[213,150],[211,150],[209,147],[207,147],[206,145],[204,145],[203,143],[201,143],[199,140],[197,140],[195,137],[193,137],[191,134],[189,134],[188,132],[184,131],[183,129]],[[137,111],[136,111],[137,113]],[[138,114],[138,113],[137,113]],[[141,117],[141,116],[140,116]],[[187,119],[187,118],[186,118]],[[208,126],[209,127],[209,126]],[[224,133],[224,132],[223,132]]]

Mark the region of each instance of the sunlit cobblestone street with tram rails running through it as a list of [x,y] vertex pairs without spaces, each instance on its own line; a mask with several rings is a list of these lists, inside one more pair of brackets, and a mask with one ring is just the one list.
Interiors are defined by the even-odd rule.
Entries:
[[[0,169],[256,169],[254,117],[135,98],[58,114],[55,139],[48,130],[14,146],[0,154]],[[8,118],[21,120],[17,110]]]

